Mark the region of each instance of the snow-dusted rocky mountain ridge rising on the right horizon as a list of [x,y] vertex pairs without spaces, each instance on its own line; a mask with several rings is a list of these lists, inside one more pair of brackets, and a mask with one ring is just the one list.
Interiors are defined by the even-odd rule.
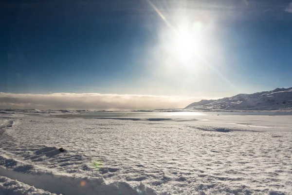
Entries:
[[238,94],[230,98],[201,100],[185,107],[205,111],[217,110],[291,110],[292,87],[276,88],[254,94]]

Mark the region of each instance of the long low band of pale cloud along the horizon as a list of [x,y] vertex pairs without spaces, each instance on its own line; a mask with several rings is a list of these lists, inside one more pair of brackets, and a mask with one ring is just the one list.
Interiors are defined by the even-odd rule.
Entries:
[[126,110],[184,108],[202,98],[97,93],[13,94],[0,92],[0,109]]

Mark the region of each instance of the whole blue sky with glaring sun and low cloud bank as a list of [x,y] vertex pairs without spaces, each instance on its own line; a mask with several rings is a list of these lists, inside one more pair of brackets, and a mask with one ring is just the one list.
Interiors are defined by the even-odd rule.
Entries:
[[0,108],[183,108],[292,86],[292,0],[2,0],[0,18]]

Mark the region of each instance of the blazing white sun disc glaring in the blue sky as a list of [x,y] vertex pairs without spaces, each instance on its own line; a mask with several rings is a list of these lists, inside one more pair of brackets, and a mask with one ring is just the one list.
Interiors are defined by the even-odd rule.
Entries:
[[175,49],[179,59],[183,62],[188,62],[198,53],[200,48],[198,34],[201,29],[202,23],[199,21],[192,25],[184,23],[179,26],[175,40]]

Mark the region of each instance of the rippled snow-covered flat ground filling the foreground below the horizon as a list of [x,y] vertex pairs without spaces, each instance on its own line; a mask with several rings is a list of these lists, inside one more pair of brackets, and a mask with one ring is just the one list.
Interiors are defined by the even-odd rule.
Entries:
[[0,114],[0,195],[291,195],[292,116],[52,112]]

